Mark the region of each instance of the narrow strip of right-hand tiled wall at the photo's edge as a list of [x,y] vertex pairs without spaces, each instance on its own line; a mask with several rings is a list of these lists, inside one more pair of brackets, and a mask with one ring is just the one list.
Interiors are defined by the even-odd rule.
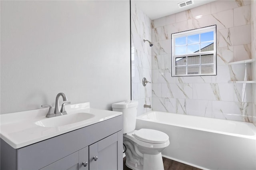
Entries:
[[[251,1],[251,20],[252,20],[252,30],[251,30],[251,53],[252,58],[256,59],[256,1]],[[252,63],[252,80],[256,80],[256,61]],[[253,123],[256,126],[256,84],[252,84],[252,95],[253,95],[253,105],[252,105],[252,117]]]

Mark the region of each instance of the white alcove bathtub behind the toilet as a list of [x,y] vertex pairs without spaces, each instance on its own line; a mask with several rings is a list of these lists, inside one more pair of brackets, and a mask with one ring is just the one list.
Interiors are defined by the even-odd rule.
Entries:
[[150,111],[136,129],[165,132],[162,156],[204,170],[256,170],[256,127],[252,123]]

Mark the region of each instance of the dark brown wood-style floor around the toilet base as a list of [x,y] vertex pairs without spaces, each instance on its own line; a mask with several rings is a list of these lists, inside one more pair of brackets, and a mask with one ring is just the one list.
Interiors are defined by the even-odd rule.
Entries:
[[[124,170],[131,170],[125,165],[125,161],[126,161],[126,157],[124,157]],[[180,162],[170,160],[164,157],[163,157],[163,161],[164,161],[164,170],[201,170],[199,168],[182,164]]]

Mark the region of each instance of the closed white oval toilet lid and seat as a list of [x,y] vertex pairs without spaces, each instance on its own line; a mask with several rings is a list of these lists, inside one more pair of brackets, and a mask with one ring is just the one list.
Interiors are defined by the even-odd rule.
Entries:
[[136,130],[133,136],[140,141],[153,144],[162,144],[169,140],[169,136],[164,132],[148,128]]

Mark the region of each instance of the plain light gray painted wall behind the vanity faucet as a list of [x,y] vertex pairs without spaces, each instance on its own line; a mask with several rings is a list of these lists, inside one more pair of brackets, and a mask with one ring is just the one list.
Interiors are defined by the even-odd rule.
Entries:
[[130,99],[130,5],[122,1],[1,1],[1,113]]

